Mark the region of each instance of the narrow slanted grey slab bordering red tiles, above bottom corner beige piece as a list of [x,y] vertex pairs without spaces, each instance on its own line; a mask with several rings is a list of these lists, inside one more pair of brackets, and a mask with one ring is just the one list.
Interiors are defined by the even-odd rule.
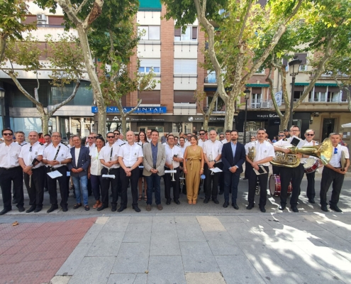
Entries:
[[84,256],[87,255],[90,247],[90,243],[80,242],[74,251],[72,251],[72,253],[69,255],[65,263],[63,263],[59,271],[57,271],[56,275],[73,275],[77,271],[77,268],[82,262]]

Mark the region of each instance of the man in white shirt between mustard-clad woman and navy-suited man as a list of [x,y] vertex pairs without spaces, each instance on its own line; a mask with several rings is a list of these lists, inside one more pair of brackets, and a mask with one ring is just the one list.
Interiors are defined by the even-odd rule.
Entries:
[[[200,131],[202,132],[202,131]],[[221,163],[221,153],[223,144],[221,141],[216,140],[217,131],[210,131],[210,140],[205,141],[203,145],[204,149],[204,175],[206,176],[206,190],[204,203],[207,204],[210,198],[215,204],[219,204],[218,196],[218,179],[221,173],[214,173],[211,171],[213,168],[219,168]]]

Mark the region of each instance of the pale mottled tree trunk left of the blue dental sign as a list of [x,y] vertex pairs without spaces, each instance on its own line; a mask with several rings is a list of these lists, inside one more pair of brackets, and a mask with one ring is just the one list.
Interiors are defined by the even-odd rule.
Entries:
[[99,78],[96,75],[95,65],[93,58],[91,57],[91,51],[88,43],[87,32],[84,31],[82,24],[77,25],[77,31],[79,40],[82,46],[84,62],[87,66],[87,73],[91,82],[91,87],[94,92],[94,99],[98,107],[98,133],[101,133],[103,137],[106,136],[106,107],[104,98],[102,97],[101,87]]

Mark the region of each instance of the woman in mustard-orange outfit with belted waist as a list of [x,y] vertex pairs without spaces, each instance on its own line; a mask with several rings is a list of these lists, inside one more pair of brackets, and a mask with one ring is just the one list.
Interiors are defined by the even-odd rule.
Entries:
[[189,204],[196,204],[199,194],[200,176],[204,173],[204,152],[197,145],[197,136],[193,135],[190,139],[190,146],[184,152],[186,161],[183,171],[185,173],[186,196]]

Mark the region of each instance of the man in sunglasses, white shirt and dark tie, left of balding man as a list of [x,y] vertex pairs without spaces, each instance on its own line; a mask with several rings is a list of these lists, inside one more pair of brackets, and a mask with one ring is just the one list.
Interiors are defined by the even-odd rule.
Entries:
[[[115,143],[115,134],[113,132],[108,132],[106,134],[107,143],[101,148],[99,153],[99,159],[104,167],[101,170],[101,175],[114,175],[115,178],[102,178],[101,186],[101,202],[102,206],[97,210],[101,211],[108,207],[108,189],[111,185],[112,190],[112,202],[111,211],[116,212],[117,202],[118,202],[118,183],[120,181],[121,165],[118,162],[118,152],[120,146]],[[119,189],[121,190],[121,189]]]

